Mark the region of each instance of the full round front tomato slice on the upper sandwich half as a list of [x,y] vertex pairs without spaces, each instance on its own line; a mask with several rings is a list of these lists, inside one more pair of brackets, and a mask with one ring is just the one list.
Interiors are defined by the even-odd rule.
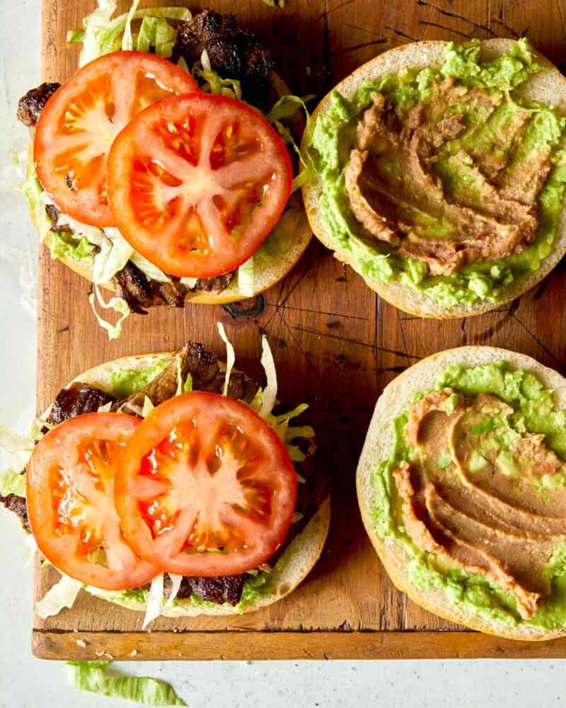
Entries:
[[247,261],[287,205],[293,171],[257,111],[210,93],[136,116],[108,156],[108,197],[129,244],[171,275],[212,278]]

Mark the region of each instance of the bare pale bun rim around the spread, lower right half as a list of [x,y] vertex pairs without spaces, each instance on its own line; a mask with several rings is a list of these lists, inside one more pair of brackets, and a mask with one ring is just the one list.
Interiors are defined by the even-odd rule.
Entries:
[[429,588],[423,590],[410,583],[408,564],[410,556],[403,542],[396,539],[382,539],[377,535],[374,526],[373,511],[375,491],[373,476],[376,464],[389,456],[393,442],[393,418],[400,415],[408,406],[413,394],[427,391],[434,387],[439,374],[454,364],[466,367],[476,366],[505,360],[512,369],[524,369],[535,374],[545,387],[553,389],[556,404],[566,409],[566,379],[553,369],[539,364],[535,359],[524,354],[499,349],[496,347],[461,347],[449,349],[439,354],[423,359],[400,374],[383,390],[377,401],[374,416],[371,418],[369,430],[364,442],[362,456],[357,468],[356,484],[359,508],[366,532],[374,544],[374,548],[385,566],[395,586],[413,600],[435,615],[449,619],[451,622],[464,624],[470,629],[478,629],[487,634],[496,634],[509,639],[526,639],[542,641],[555,639],[566,635],[566,627],[562,629],[543,629],[523,624],[509,627],[503,622],[483,619],[458,605],[453,605],[444,590]]

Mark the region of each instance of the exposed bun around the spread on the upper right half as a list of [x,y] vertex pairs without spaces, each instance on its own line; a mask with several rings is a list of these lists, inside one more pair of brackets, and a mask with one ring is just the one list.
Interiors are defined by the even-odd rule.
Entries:
[[[395,49],[383,52],[383,54],[371,59],[371,61],[363,64],[356,69],[350,76],[347,76],[340,82],[335,89],[340,91],[346,98],[352,98],[354,93],[367,79],[376,79],[383,74],[389,72],[397,74],[402,69],[407,67],[416,67],[424,69],[425,67],[440,67],[444,48],[448,42],[413,42],[395,47]],[[481,42],[480,57],[482,59],[492,59],[498,55],[504,54],[512,46],[513,40],[492,39],[483,40]],[[566,113],[566,79],[553,64],[548,62],[542,55],[533,52],[536,60],[541,64],[549,67],[548,72],[533,74],[521,86],[521,93],[524,96],[533,98],[534,100],[553,105],[562,113]],[[330,93],[323,98],[318,104],[312,116],[312,124],[320,113],[323,113],[330,105]],[[301,149],[306,149],[307,135],[303,137]],[[324,219],[320,215],[319,201],[322,193],[322,183],[320,179],[314,176],[308,184],[303,187],[303,199],[306,208],[306,215],[311,224],[315,236],[323,242],[331,251],[335,251],[335,243],[333,235],[328,232]],[[400,282],[376,282],[371,278],[364,278],[367,285],[375,290],[383,299],[386,299],[391,304],[399,309],[410,314],[415,314],[421,317],[434,317],[436,319],[450,319],[454,317],[469,317],[470,315],[481,314],[488,312],[496,307],[501,307],[502,304],[511,302],[519,295],[522,295],[527,290],[530,290],[533,285],[542,280],[545,275],[550,273],[560,258],[566,253],[566,216],[564,210],[560,217],[557,233],[553,242],[552,251],[547,258],[541,263],[541,267],[528,275],[524,280],[512,284],[507,290],[505,299],[493,303],[487,300],[477,302],[473,305],[458,304],[454,307],[444,307],[441,303],[432,299],[428,295],[424,295],[415,287],[405,285]],[[350,259],[350,254],[345,251],[335,251],[335,258],[338,261],[343,261],[356,270],[356,266]]]

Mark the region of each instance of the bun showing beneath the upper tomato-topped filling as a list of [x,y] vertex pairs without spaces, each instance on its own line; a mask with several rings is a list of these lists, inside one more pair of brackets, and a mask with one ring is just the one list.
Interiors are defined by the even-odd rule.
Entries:
[[[276,72],[271,72],[270,84],[270,90],[276,97],[275,100],[277,100],[279,96],[290,93],[289,87]],[[298,125],[299,130],[301,130],[303,125],[302,121],[296,120],[296,125]],[[291,128],[294,128],[294,122],[291,122]],[[294,132],[296,131],[294,130]],[[32,147],[33,143],[30,145],[31,164],[33,164]],[[33,214],[32,220],[37,229],[37,222]],[[295,263],[299,261],[309,241],[311,241],[311,227],[308,224],[301,202],[301,196],[298,193],[291,196],[289,205],[282,218],[279,219],[279,224],[277,224],[275,229],[281,233],[281,239],[277,247],[274,246],[273,248],[275,255],[272,258],[261,258],[254,261],[253,295],[251,297],[260,295],[261,292],[268,290],[272,285],[275,285],[276,282],[282,280],[285,275],[289,273],[291,268],[293,268]],[[47,234],[45,237],[47,246],[50,246],[50,239],[50,234]],[[79,273],[83,278],[92,281],[92,265],[90,263],[76,261],[74,258],[65,258],[64,256],[59,256],[59,260],[71,268],[71,270],[74,270],[75,273]],[[108,290],[115,290],[113,285],[105,285],[105,287],[107,287]],[[195,302],[197,304],[225,304],[226,302],[238,302],[245,297],[250,296],[240,294],[238,291],[238,278],[234,278],[229,287],[226,287],[226,290],[222,290],[221,292],[204,292],[201,290],[187,292],[185,302]]]

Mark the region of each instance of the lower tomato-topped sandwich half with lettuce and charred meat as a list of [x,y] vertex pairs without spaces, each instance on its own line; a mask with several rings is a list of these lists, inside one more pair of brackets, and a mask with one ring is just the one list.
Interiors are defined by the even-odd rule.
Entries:
[[24,469],[4,473],[0,502],[62,576],[40,617],[81,590],[145,612],[144,627],[252,612],[316,563],[328,487],[313,429],[290,424],[307,406],[277,402],[267,340],[260,387],[219,330],[226,363],[191,342],[106,362],[57,394],[27,443],[12,439]]

